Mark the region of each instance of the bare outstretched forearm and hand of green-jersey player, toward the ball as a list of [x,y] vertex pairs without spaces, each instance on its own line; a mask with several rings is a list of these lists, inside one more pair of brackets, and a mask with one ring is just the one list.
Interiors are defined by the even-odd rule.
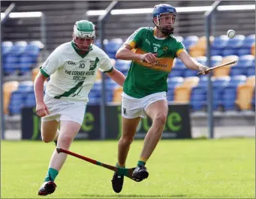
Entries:
[[191,70],[199,70],[201,73],[203,73],[203,75],[206,74],[205,70],[209,68],[204,66],[203,64],[198,63],[195,58],[191,58],[191,56],[188,55],[187,52],[181,52],[179,54],[179,59],[183,62],[185,67]]

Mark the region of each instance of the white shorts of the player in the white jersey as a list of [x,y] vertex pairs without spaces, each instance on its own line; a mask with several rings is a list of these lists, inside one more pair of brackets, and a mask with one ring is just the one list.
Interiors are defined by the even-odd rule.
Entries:
[[54,99],[45,94],[44,103],[47,105],[50,114],[42,117],[42,121],[74,121],[82,126],[83,117],[86,113],[85,102],[69,102]]

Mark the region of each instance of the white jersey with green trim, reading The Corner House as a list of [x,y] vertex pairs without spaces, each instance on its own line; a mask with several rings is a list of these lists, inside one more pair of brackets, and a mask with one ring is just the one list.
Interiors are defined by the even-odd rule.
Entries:
[[92,46],[87,55],[81,55],[73,45],[72,42],[63,43],[42,65],[41,73],[50,76],[46,94],[55,99],[88,102],[98,69],[110,72],[113,67],[110,58],[98,46]]

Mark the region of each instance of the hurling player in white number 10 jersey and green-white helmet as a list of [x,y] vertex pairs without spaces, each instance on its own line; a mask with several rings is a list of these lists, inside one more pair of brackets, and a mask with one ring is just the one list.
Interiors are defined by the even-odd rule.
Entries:
[[[95,25],[87,20],[76,22],[73,40],[51,53],[35,79],[36,112],[41,117],[42,139],[46,143],[56,141],[57,147],[65,150],[69,149],[83,123],[88,94],[98,69],[121,86],[125,81],[125,76],[112,67],[107,54],[93,45],[94,40]],[[50,81],[44,95],[44,82],[48,77]],[[54,150],[38,195],[55,191],[54,180],[66,158],[65,153]]]

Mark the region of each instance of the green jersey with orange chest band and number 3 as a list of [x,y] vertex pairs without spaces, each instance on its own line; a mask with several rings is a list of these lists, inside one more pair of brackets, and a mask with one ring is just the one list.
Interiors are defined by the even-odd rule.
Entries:
[[134,60],[128,70],[123,91],[131,97],[142,98],[149,94],[167,92],[167,77],[173,67],[173,60],[185,47],[175,37],[155,37],[154,28],[139,28],[126,40],[135,53],[157,53],[155,64]]

